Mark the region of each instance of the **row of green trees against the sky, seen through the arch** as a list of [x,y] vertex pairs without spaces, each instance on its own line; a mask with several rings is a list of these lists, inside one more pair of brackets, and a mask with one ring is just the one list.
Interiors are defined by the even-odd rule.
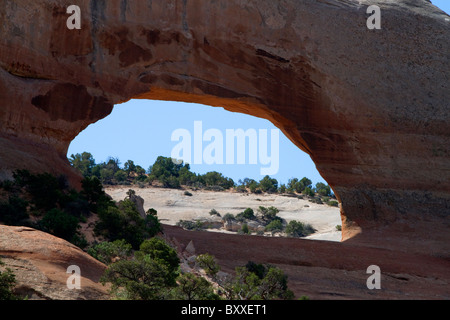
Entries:
[[[71,155],[69,161],[83,176],[95,176],[105,185],[138,184],[145,186],[158,183],[165,188],[186,186],[193,189],[215,191],[234,188],[237,192],[256,194],[287,193],[302,194],[309,197],[334,198],[329,185],[318,182],[313,186],[312,181],[306,177],[302,179],[292,178],[287,184],[279,184],[277,179],[270,176],[265,176],[260,181],[245,178],[235,183],[233,179],[224,177],[216,171],[205,174],[194,173],[191,171],[189,164],[163,156],[159,156],[147,170],[135,164],[132,160],[126,161],[122,167],[120,160],[117,158],[109,158],[106,162],[97,164],[92,154],[88,152]],[[326,201],[328,200],[326,199]],[[331,205],[337,205],[337,202]]]

